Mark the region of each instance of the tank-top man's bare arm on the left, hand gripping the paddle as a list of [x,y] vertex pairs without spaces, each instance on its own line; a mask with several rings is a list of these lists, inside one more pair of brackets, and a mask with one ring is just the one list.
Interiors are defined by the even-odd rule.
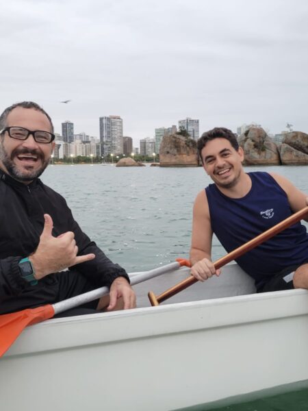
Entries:
[[190,262],[192,263],[192,275],[199,281],[216,274],[211,262],[211,240],[213,232],[209,217],[209,206],[205,190],[198,193],[194,201],[194,212],[192,217],[192,246],[190,249]]

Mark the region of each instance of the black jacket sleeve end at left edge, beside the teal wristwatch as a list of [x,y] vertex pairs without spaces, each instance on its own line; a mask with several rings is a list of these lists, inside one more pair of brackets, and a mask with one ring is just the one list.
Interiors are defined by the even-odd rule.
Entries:
[[21,258],[8,257],[0,260],[0,303],[18,296],[28,285],[18,269]]

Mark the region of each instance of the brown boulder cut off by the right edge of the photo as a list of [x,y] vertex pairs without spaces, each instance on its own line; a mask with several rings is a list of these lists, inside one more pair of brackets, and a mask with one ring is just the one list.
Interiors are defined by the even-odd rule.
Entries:
[[283,165],[308,164],[308,134],[302,132],[285,134],[279,151]]

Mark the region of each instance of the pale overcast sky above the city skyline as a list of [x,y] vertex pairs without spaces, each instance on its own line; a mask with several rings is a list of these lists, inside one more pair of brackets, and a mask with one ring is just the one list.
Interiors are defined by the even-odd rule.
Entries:
[[[10,0],[1,7],[1,106],[33,100],[55,132],[134,145],[189,116],[200,132],[287,122],[308,132],[307,0]],[[60,103],[71,99],[70,103]]]

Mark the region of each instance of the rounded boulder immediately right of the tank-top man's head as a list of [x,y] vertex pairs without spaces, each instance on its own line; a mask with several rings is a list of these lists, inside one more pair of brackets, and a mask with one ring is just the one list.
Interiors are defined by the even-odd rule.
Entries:
[[244,150],[244,165],[281,164],[277,145],[261,127],[251,127],[238,138]]

